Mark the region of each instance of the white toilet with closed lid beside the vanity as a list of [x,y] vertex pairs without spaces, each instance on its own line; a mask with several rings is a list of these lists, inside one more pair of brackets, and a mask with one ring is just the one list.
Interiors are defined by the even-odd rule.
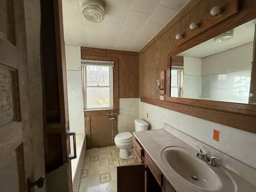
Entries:
[[[135,119],[135,132],[148,130],[148,123],[142,119]],[[120,149],[119,157],[122,159],[132,158],[132,134],[130,132],[118,133],[115,136],[115,144]]]

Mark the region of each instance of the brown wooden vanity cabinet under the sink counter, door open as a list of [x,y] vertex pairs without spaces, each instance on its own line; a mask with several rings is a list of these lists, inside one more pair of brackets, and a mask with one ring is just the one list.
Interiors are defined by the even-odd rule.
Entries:
[[135,165],[117,167],[118,192],[175,192],[136,138],[133,154]]

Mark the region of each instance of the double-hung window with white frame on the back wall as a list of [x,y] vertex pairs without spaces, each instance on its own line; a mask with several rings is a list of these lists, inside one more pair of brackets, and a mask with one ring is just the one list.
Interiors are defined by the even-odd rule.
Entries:
[[84,110],[113,108],[114,62],[82,60]]

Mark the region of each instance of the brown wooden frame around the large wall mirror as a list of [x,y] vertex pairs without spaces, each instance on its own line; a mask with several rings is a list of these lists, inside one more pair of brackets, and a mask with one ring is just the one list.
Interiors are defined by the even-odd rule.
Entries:
[[[200,100],[190,98],[176,98],[170,96],[170,76],[171,76],[171,59],[172,56],[188,50],[202,42],[205,42],[219,34],[222,34],[236,26],[246,23],[256,18],[256,12],[250,11],[249,13],[240,14],[236,20],[229,22],[220,22],[208,30],[202,32],[200,35],[195,36],[184,42],[176,48],[176,50],[168,54],[168,70],[166,78],[167,94],[166,101],[170,102],[168,107],[170,110],[175,110],[210,120],[212,122],[224,124],[244,131],[256,133],[256,104],[241,104],[232,102],[220,102],[212,100]],[[254,40],[253,62],[252,62],[252,76],[254,79],[251,83],[256,86],[256,42]],[[251,90],[251,89],[250,89]],[[163,106],[164,107],[164,106]]]

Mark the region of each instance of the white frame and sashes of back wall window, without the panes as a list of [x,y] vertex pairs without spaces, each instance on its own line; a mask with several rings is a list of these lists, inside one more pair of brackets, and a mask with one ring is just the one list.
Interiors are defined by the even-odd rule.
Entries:
[[[103,62],[103,61],[102,61]],[[104,66],[104,64],[102,64],[102,66],[104,67],[108,67],[109,68],[109,86],[88,86],[87,85],[87,66],[95,66],[95,67],[99,67],[99,65],[82,65],[84,67],[82,67],[82,88],[83,88],[83,108],[84,110],[104,110],[104,109],[112,109],[114,106],[114,95],[113,95],[113,67],[112,66]],[[94,88],[103,88],[103,87],[109,87],[109,96],[110,96],[110,106],[108,107],[96,107],[96,108],[88,108],[87,104],[88,104],[88,100],[87,100],[87,88],[88,87],[94,87]]]

